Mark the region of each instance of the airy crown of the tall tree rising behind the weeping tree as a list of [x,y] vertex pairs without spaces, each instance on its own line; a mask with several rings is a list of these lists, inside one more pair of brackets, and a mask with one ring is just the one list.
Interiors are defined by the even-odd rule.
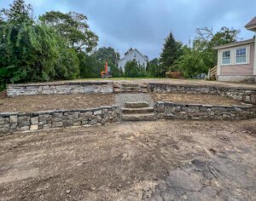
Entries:
[[78,52],[90,53],[97,45],[98,37],[90,31],[87,17],[84,14],[74,12],[63,14],[59,11],[50,11],[39,16],[39,20],[55,28],[61,37],[67,38],[69,46]]

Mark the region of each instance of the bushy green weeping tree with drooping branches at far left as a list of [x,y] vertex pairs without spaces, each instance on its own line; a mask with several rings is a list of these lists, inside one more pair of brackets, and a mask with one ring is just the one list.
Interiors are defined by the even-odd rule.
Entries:
[[7,82],[49,80],[54,75],[58,40],[44,26],[7,23],[0,26],[0,70]]

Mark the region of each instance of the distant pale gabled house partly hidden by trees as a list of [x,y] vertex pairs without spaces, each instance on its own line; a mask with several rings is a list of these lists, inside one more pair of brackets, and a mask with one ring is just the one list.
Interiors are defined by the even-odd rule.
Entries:
[[139,66],[146,67],[148,64],[148,57],[141,54],[137,49],[129,49],[125,56],[119,60],[119,69],[125,72],[125,64],[127,61],[136,60]]

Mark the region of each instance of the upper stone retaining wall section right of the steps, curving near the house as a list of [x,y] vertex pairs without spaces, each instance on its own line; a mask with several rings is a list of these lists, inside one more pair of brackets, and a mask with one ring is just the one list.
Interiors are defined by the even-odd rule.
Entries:
[[211,94],[227,96],[235,100],[256,104],[256,89],[235,88],[212,85],[187,85],[174,83],[149,83],[148,88],[153,93],[189,93],[189,94]]

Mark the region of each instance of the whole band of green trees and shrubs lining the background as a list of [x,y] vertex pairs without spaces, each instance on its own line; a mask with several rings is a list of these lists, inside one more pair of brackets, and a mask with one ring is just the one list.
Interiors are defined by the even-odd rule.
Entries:
[[113,78],[164,77],[166,71],[180,71],[193,78],[217,64],[213,47],[237,40],[238,31],[227,27],[213,33],[197,29],[192,47],[177,42],[172,32],[160,54],[139,66],[127,62],[125,72],[117,66],[120,55],[111,47],[96,49],[98,37],[84,14],[50,11],[35,19],[32,6],[14,0],[0,11],[0,89],[5,83],[44,82],[73,78],[100,78],[105,61]]

